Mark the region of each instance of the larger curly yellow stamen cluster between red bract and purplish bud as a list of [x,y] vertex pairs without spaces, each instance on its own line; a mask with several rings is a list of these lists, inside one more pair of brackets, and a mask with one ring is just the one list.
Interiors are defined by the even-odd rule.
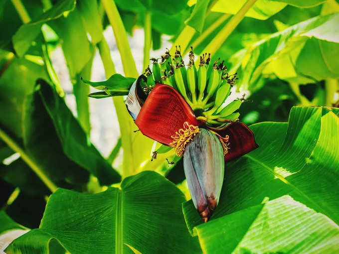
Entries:
[[170,143],[170,146],[173,148],[177,156],[183,156],[186,145],[193,139],[196,133],[199,132],[199,127],[189,125],[187,122],[185,122],[183,124],[183,128],[179,129],[174,135],[171,136],[173,141]]

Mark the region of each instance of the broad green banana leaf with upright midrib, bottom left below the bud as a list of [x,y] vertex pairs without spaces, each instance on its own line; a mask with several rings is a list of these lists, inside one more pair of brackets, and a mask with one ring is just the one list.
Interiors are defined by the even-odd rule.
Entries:
[[59,189],[48,200],[40,228],[5,251],[47,254],[59,246],[72,254],[196,253],[197,239],[180,209],[184,200],[174,184],[152,171],[98,194]]

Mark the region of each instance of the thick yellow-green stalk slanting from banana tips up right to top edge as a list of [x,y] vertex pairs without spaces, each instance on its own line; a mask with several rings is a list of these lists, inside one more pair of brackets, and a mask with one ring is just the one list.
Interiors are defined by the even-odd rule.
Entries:
[[[208,52],[211,53],[211,55],[214,55],[255,2],[256,0],[247,0],[240,10],[227,22],[215,38],[201,52]],[[199,61],[195,64],[199,64]]]

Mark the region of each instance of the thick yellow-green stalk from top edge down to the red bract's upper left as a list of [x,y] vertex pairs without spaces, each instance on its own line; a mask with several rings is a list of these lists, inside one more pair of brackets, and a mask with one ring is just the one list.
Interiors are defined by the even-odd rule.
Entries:
[[121,55],[124,73],[127,77],[138,77],[138,71],[132,56],[130,44],[128,43],[126,30],[119,15],[119,11],[113,0],[102,0],[107,17],[113,28],[114,37]]

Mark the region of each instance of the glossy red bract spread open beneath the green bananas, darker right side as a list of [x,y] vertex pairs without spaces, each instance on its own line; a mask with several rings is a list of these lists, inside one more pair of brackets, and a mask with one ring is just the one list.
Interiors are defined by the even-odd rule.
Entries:
[[158,83],[153,88],[135,121],[144,135],[166,145],[170,145],[173,141],[171,136],[182,128],[185,122],[210,129],[220,137],[228,135],[229,150],[225,155],[225,161],[235,159],[258,147],[253,132],[243,123],[231,122],[219,128],[199,123],[182,96],[174,88],[164,84]]

